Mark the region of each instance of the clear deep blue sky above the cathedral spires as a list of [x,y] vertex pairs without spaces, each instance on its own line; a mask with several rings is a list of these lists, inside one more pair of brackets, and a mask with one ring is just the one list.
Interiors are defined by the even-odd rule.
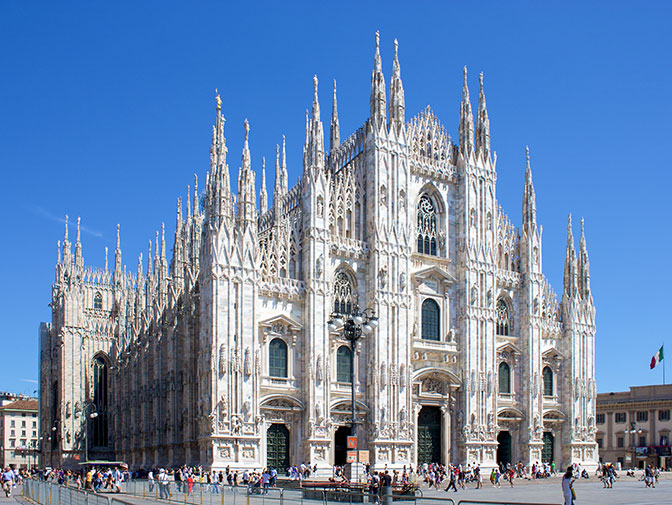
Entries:
[[[231,7],[227,7],[231,5]],[[215,88],[237,181],[243,121],[272,188],[287,136],[301,172],[305,109],[323,119],[338,81],[341,138],[368,117],[374,32],[386,83],[399,39],[407,118],[427,104],[457,138],[462,67],[472,105],[484,72],[497,196],[520,225],[530,146],[544,272],[562,295],[567,214],[585,217],[600,392],[660,383],[672,357],[669,286],[670,2],[0,3],[0,390],[37,388],[63,218],[82,219],[86,264],[123,261],[205,179]],[[71,237],[75,228],[71,227]],[[672,365],[668,367],[672,379]]]

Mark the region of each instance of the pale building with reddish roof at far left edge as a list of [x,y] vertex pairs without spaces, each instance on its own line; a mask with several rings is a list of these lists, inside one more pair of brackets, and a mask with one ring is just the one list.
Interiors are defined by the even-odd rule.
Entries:
[[0,407],[0,467],[32,468],[38,458],[37,399],[22,397]]

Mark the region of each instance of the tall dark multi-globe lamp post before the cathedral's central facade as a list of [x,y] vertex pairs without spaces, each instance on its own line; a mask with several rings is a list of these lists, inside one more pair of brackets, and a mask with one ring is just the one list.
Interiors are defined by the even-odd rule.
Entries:
[[355,437],[357,445],[355,447],[357,456],[355,459],[355,471],[350,473],[351,480],[359,480],[359,439],[357,438],[357,404],[356,404],[356,390],[355,379],[357,372],[355,369],[355,350],[357,349],[357,341],[362,335],[368,335],[378,326],[378,318],[372,308],[359,311],[359,307],[355,306],[354,310],[349,314],[341,314],[334,312],[329,317],[327,322],[330,331],[336,331],[343,328],[343,337],[350,342],[351,361],[350,361],[350,382],[352,386],[352,436]]

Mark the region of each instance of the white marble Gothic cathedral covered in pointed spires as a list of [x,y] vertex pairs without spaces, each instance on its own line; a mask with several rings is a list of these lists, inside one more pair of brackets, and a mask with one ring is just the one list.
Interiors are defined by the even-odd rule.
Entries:
[[[328,149],[317,78],[303,170],[276,148],[272,204],[256,194],[249,132],[231,188],[222,100],[210,168],[140,255],[84,264],[59,242],[52,320],[40,326],[45,464],[223,469],[346,462],[353,409],[372,468],[430,462],[596,465],[595,308],[571,217],[562,298],[542,272],[529,152],[520,228],[496,197],[483,76],[459,138],[428,107],[406,118],[394,44],[389,88],[376,34],[370,113]],[[199,192],[200,189],[200,192]],[[107,258],[107,255],[106,255]],[[378,325],[352,355],[334,313]],[[372,328],[367,328],[371,330]],[[353,367],[354,363],[354,369]],[[352,377],[355,377],[354,384]],[[353,394],[354,389],[354,394]]]

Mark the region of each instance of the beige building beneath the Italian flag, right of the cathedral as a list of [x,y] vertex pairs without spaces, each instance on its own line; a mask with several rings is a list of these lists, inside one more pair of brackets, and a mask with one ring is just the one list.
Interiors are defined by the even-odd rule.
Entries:
[[597,395],[597,445],[600,461],[630,468],[652,464],[672,468],[672,384],[635,386]]

